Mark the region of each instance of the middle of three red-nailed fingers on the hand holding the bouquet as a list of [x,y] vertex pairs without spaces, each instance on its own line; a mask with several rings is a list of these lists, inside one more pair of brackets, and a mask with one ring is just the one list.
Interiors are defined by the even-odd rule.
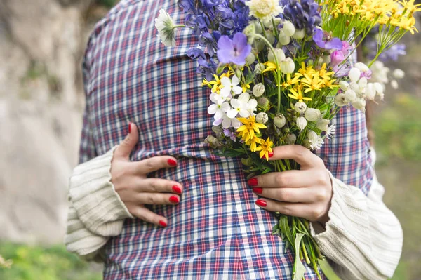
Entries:
[[307,187],[253,187],[253,192],[268,199],[283,202],[313,202],[316,199],[316,192]]

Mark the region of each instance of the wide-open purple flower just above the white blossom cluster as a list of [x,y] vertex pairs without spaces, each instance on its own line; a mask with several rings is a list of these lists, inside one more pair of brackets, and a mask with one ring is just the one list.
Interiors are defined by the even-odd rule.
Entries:
[[245,65],[246,57],[250,52],[251,46],[247,44],[247,36],[243,33],[236,33],[232,39],[229,39],[229,36],[221,36],[216,54],[221,63]]

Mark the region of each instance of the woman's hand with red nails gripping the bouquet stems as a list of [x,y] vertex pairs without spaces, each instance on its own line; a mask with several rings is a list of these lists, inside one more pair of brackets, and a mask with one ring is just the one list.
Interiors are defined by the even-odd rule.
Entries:
[[273,172],[248,180],[253,192],[265,199],[256,204],[268,211],[326,223],[332,182],[323,161],[300,145],[275,147],[269,160],[293,159],[300,170]]

